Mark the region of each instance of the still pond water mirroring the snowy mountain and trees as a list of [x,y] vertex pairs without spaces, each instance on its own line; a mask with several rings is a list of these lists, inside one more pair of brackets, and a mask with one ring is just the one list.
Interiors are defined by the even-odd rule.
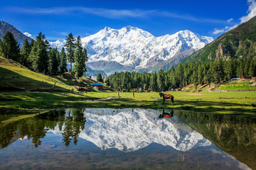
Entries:
[[139,108],[11,116],[0,115],[0,169],[256,169],[252,118]]

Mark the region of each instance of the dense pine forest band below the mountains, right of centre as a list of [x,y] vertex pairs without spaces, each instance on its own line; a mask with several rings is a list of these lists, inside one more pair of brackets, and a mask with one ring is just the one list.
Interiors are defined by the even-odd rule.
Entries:
[[169,91],[188,84],[210,84],[229,81],[233,77],[256,76],[256,60],[245,57],[239,60],[218,60],[213,62],[195,62],[178,64],[167,72],[162,69],[156,73],[120,72],[107,77],[108,86],[120,87],[128,91],[133,88],[151,89],[151,91]]

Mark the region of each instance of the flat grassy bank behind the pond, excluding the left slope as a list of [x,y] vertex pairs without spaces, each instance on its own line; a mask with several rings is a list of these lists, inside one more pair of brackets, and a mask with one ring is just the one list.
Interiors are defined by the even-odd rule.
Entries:
[[[49,108],[173,108],[176,110],[198,111],[206,113],[224,113],[256,117],[256,91],[236,91],[224,93],[191,93],[186,91],[166,92],[174,96],[163,103],[159,93],[117,93],[112,91],[71,94],[65,92],[19,91],[0,93],[0,109],[49,109]],[[112,97],[109,100],[100,100]]]

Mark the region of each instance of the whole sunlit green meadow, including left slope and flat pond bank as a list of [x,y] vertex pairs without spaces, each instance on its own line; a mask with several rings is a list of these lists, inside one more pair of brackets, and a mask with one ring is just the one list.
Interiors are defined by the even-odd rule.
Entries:
[[[4,79],[1,79],[4,77]],[[256,108],[251,106],[256,104],[256,91],[229,91],[229,92],[208,92],[207,87],[200,93],[189,91],[168,91],[166,94],[174,96],[174,106],[171,101],[166,100],[163,103],[159,93],[135,93],[134,98],[131,92],[119,92],[120,98],[117,98],[117,92],[110,90],[90,92],[76,91],[70,93],[73,86],[79,86],[81,83],[85,86],[95,83],[92,79],[82,77],[76,81],[71,74],[64,74],[58,77],[48,77],[43,74],[32,72],[26,67],[11,60],[0,57],[0,84],[9,86],[18,86],[25,88],[26,91],[0,91],[0,109],[49,109],[49,108],[174,108],[178,110],[201,111],[208,113],[242,114],[256,115]],[[41,91],[36,91],[38,85],[41,85]],[[50,89],[56,82],[55,89]],[[234,87],[237,84],[232,84]],[[240,84],[238,84],[241,86]],[[246,83],[242,86],[247,86]],[[223,86],[220,86],[223,88]],[[109,100],[100,100],[112,98]],[[2,110],[3,111],[3,110]]]

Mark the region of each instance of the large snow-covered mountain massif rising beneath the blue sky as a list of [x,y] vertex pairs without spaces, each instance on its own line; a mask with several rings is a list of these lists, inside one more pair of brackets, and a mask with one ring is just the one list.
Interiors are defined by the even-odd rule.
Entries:
[[[87,49],[88,62],[118,62],[133,69],[154,67],[159,62],[169,60],[181,52],[197,51],[213,38],[181,30],[174,35],[155,37],[137,27],[126,26],[121,29],[105,27],[94,35],[81,38]],[[51,47],[63,47],[64,41],[50,42]],[[188,52],[188,55],[191,53]],[[187,56],[188,56],[187,55]],[[185,57],[187,57],[185,55]],[[93,67],[93,64],[90,68]]]

